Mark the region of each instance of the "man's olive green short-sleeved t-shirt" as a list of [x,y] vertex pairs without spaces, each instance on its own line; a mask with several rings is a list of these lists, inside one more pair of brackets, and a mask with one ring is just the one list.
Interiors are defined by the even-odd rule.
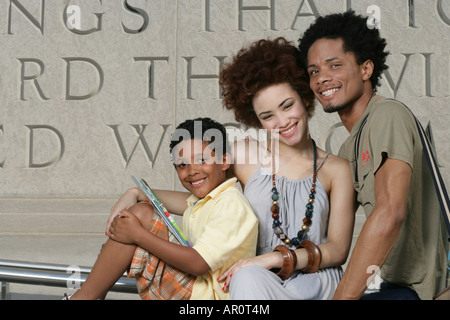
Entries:
[[413,114],[400,102],[375,95],[339,155],[350,162],[357,201],[366,217],[376,205],[375,175],[383,159],[411,167],[406,219],[381,277],[411,287],[421,299],[432,299],[445,285],[448,243]]

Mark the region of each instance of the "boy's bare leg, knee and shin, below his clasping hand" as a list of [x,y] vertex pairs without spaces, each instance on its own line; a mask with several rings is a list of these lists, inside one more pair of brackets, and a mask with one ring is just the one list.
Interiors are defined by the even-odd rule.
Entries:
[[[153,207],[150,205],[137,204],[128,211],[135,214],[144,226],[148,226],[153,217]],[[128,270],[135,251],[136,245],[108,239],[88,278],[70,299],[104,299],[111,287]]]

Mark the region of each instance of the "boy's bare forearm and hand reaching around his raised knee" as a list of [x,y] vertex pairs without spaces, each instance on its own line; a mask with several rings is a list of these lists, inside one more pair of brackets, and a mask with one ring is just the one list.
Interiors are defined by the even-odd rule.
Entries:
[[136,244],[171,266],[195,276],[201,276],[210,269],[195,249],[153,235],[142,226],[135,215],[127,211],[123,211],[120,218],[116,218],[109,237],[122,243]]

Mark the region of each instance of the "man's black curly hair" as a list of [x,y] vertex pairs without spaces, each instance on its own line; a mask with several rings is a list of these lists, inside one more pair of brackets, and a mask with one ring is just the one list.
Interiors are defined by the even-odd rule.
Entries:
[[374,71],[370,81],[372,89],[376,90],[383,71],[388,68],[385,62],[389,52],[384,51],[386,40],[380,37],[378,29],[367,27],[367,18],[356,15],[352,10],[317,18],[299,39],[302,66],[307,66],[309,48],[323,38],[342,39],[344,50],[353,52],[358,64],[371,60]]

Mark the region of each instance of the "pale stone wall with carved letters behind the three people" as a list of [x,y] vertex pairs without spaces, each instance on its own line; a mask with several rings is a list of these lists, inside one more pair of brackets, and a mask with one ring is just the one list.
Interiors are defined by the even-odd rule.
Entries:
[[[221,64],[265,37],[297,41],[315,17],[352,8],[389,44],[379,92],[431,123],[449,182],[450,1],[127,0],[0,4],[0,196],[115,197],[130,174],[175,188],[168,139],[194,116],[232,123]],[[345,138],[320,105],[312,133]]]

